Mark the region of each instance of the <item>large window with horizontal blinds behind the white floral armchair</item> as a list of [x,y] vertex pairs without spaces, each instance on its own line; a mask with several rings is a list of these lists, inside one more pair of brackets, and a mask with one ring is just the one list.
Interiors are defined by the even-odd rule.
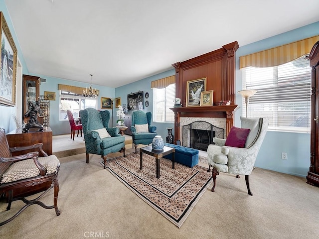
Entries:
[[273,130],[310,132],[311,68],[305,56],[275,67],[244,68],[245,88],[258,90],[249,99],[248,117],[268,118]]

